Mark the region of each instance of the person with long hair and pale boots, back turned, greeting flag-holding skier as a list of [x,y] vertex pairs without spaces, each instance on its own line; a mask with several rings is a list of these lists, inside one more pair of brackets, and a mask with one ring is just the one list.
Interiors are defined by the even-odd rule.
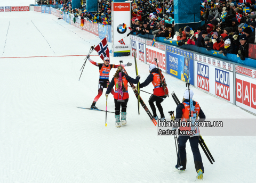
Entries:
[[[107,91],[106,96],[109,95],[109,93],[113,90],[113,87],[115,86],[115,94],[114,94],[114,102],[115,102],[115,119],[116,119],[116,127],[121,127],[122,124],[126,124],[126,107],[129,100],[129,93],[128,93],[128,82],[132,82],[133,84],[138,84],[140,80],[140,76],[136,76],[136,79],[131,78],[130,76],[127,76],[123,71],[123,67],[119,65],[117,68],[117,71],[112,78]],[[122,80],[119,78],[122,73]],[[119,74],[120,73],[120,74]],[[121,90],[122,86],[122,90]],[[122,105],[122,116],[120,121],[120,107]]]

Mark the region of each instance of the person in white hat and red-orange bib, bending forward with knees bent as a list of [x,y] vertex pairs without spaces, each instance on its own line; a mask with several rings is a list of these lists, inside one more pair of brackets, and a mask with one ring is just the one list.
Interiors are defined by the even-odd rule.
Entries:
[[[164,112],[163,112],[163,107],[161,105],[161,103],[164,101],[163,98],[166,98],[167,95],[165,95],[164,92],[164,88],[163,86],[161,86],[161,80],[160,80],[160,76],[158,73],[158,69],[156,68],[155,64],[150,64],[149,65],[149,76],[147,77],[147,79],[142,82],[140,84],[140,88],[143,88],[145,86],[148,86],[150,84],[150,82],[152,82],[153,86],[154,86],[154,93],[153,95],[150,96],[148,103],[151,107],[151,110],[153,111],[153,118],[155,118],[155,120],[158,120],[158,116],[156,115],[156,107],[154,105],[154,102],[156,102],[156,106],[159,110],[159,113],[161,114],[161,120],[164,120]],[[162,74],[162,80],[165,82],[164,76]],[[135,86],[133,88],[133,90],[137,89],[137,86]],[[166,87],[166,90],[168,92],[168,89]]]

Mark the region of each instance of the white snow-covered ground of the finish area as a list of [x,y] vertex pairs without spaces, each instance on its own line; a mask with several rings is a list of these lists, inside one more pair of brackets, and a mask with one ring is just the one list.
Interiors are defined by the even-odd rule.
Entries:
[[[0,22],[1,57],[59,56],[0,58],[0,182],[194,182],[189,144],[187,170],[179,174],[174,169],[177,156],[173,136],[157,136],[142,107],[138,115],[137,99],[131,90],[128,123],[121,128],[115,128],[114,114],[108,113],[105,127],[104,112],[77,109],[91,106],[97,95],[99,71],[87,62],[78,81],[85,56],[60,56],[86,55],[99,38],[38,12],[1,13]],[[91,58],[101,62],[99,56]],[[133,62],[131,56],[110,57],[111,63],[118,64],[120,59]],[[138,62],[138,67],[144,81],[148,65]],[[134,65],[126,70],[135,77]],[[111,71],[110,76],[113,74]],[[164,76],[169,91],[181,99],[184,82]],[[152,89],[151,85],[143,88],[148,92]],[[256,118],[235,105],[193,90],[207,118]],[[141,93],[148,107],[149,96]],[[176,107],[171,97],[162,105],[166,117],[167,111]],[[105,96],[97,107],[105,109]],[[108,109],[114,111],[111,96]],[[255,181],[254,137],[205,136],[204,140],[215,159],[210,164],[201,150],[204,182]]]

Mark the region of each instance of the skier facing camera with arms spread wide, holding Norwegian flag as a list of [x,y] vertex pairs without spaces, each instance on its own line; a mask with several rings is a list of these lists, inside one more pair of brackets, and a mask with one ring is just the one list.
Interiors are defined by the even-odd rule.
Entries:
[[[109,85],[109,72],[112,68],[117,68],[119,65],[115,64],[109,64],[109,57],[104,57],[103,63],[96,63],[90,59],[90,55],[86,56],[87,59],[95,66],[99,67],[99,72],[100,72],[100,79],[99,79],[99,87],[98,87],[98,95],[94,98],[91,109],[92,110],[97,110],[98,108],[95,106],[96,102],[100,98],[100,96],[103,93],[103,88],[107,88],[107,85]],[[127,63],[123,64],[122,66],[131,66],[132,63]],[[114,95],[114,90],[111,90],[111,94]]]

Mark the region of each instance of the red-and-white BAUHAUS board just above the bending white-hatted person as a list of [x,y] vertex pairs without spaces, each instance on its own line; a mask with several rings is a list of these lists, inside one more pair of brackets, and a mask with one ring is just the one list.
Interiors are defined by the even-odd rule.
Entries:
[[146,61],[147,64],[156,64],[155,58],[157,59],[157,63],[160,69],[162,69],[163,72],[166,72],[166,62],[165,62],[165,51],[162,51],[156,47],[153,46],[147,46],[146,47]]

